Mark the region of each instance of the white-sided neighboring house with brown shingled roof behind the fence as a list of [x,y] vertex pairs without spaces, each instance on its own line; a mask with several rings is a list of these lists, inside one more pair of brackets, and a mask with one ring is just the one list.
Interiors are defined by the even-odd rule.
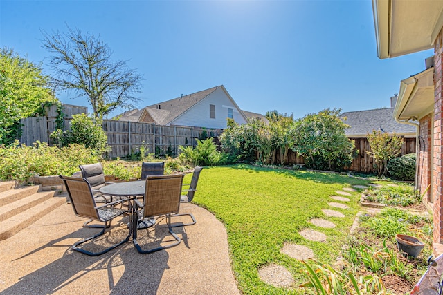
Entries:
[[181,95],[175,99],[135,109],[116,116],[118,120],[149,122],[164,126],[196,126],[225,129],[226,119],[245,124],[247,117],[263,117],[242,111],[223,85]]

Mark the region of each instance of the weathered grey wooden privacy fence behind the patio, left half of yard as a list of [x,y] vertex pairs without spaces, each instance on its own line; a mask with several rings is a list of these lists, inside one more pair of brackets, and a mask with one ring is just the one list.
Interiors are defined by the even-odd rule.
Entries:
[[[64,115],[64,131],[69,129],[72,116],[87,113],[84,106],[62,104]],[[46,108],[47,116],[28,117],[21,120],[20,143],[28,146],[39,140],[52,144],[49,135],[56,129],[57,106]],[[106,132],[111,146],[109,157],[126,157],[139,153],[141,146],[145,153],[156,155],[178,155],[179,146],[196,146],[197,139],[220,135],[221,129],[205,129],[189,126],[159,126],[154,123],[127,122],[103,120],[103,130]]]

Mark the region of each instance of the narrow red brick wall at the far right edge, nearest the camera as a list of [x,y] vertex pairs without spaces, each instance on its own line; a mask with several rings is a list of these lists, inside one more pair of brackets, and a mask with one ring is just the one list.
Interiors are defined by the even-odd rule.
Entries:
[[443,31],[440,31],[434,44],[434,152],[433,152],[433,199],[434,199],[434,242],[441,243],[443,241],[443,160],[442,160],[442,59],[443,59]]

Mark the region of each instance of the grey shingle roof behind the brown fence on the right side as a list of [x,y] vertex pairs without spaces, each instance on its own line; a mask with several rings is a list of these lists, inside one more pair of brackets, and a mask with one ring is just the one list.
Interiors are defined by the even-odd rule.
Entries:
[[[375,110],[346,112],[340,115],[350,128],[345,129],[348,137],[366,137],[372,130],[397,133],[408,137],[415,136],[415,126],[401,124],[394,119],[394,108],[377,108]],[[347,118],[346,120],[345,117]]]

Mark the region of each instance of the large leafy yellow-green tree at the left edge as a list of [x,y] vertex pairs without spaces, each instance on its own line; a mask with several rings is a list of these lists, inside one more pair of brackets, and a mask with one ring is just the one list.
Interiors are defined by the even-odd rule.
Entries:
[[0,144],[9,144],[30,117],[46,102],[57,102],[42,69],[8,48],[0,49]]

